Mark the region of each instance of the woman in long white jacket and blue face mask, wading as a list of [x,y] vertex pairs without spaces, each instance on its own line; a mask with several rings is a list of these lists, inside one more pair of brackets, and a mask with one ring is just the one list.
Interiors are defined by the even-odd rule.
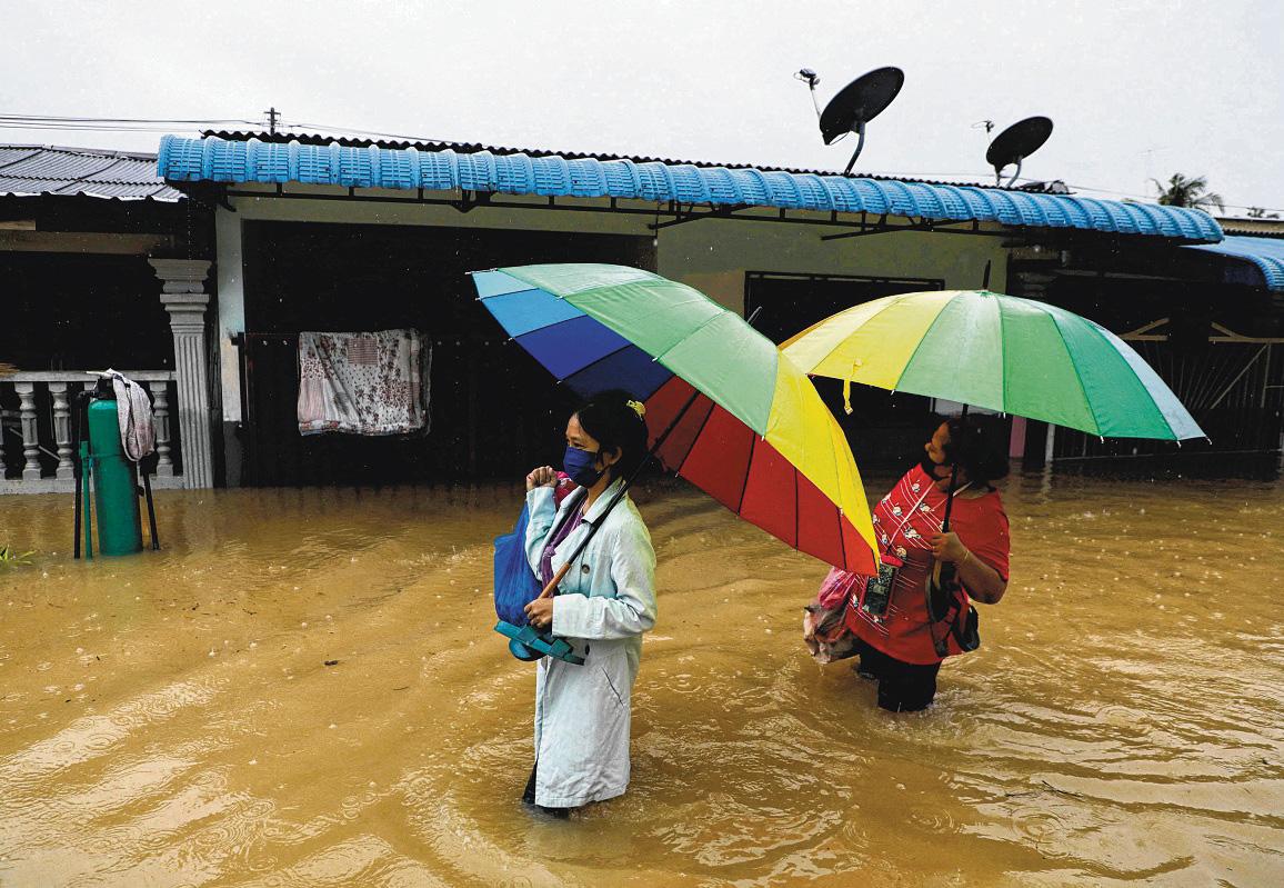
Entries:
[[603,392],[566,423],[565,470],[578,488],[559,508],[556,472],[526,475],[526,559],[542,582],[600,524],[556,594],[526,605],[532,626],[584,658],[546,657],[535,673],[535,766],[523,801],[555,815],[620,795],[629,783],[629,702],[642,634],[655,625],[655,549],[627,493],[607,506],[646,448],[642,405]]

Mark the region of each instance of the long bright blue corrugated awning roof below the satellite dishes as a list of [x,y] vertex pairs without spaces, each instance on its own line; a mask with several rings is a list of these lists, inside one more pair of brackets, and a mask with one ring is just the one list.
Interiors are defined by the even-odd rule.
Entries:
[[1181,207],[1061,194],[930,185],[754,167],[600,161],[550,154],[461,153],[447,148],[345,147],[338,141],[232,141],[163,136],[157,162],[167,181],[304,182],[344,188],[426,189],[582,198],[678,200],[709,206],[869,212],[1009,226],[1085,229],[1221,240],[1212,216]]

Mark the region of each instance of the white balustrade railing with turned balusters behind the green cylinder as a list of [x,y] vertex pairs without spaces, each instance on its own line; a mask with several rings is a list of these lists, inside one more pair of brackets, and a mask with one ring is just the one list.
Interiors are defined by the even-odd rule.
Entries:
[[[175,374],[125,370],[152,392],[157,433],[157,487],[182,487],[175,474],[169,416]],[[78,391],[92,389],[98,375],[86,370],[13,373],[0,378],[0,493],[53,493],[74,488],[72,407]],[[22,442],[21,456],[18,441]],[[9,463],[5,463],[9,454]]]

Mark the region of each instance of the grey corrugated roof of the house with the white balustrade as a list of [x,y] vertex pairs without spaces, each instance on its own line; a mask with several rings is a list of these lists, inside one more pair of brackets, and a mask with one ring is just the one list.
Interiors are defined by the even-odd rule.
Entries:
[[157,176],[155,154],[0,145],[0,194],[83,194],[118,200],[182,200]]

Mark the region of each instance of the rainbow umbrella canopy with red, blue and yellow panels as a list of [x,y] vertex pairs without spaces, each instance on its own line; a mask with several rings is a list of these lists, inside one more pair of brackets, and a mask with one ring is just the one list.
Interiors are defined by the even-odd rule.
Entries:
[[670,470],[831,564],[871,572],[873,524],[846,437],[811,382],[738,315],[639,269],[530,265],[474,272],[482,303],[583,396],[646,404]]

